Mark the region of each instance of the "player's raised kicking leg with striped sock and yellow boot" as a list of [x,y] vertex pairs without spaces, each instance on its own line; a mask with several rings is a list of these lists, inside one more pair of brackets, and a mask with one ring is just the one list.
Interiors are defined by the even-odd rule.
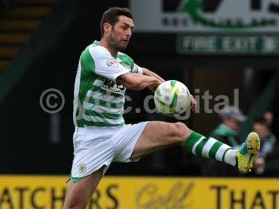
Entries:
[[239,150],[211,137],[206,138],[190,130],[184,123],[149,122],[137,141],[131,158],[151,153],[153,150],[173,144],[183,144],[188,152],[211,158],[232,166],[242,173],[252,168],[252,162],[259,150],[259,137],[252,132]]

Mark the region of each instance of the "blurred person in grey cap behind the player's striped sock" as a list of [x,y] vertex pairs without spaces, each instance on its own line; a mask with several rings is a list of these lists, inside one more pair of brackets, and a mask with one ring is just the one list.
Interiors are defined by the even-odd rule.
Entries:
[[[239,148],[239,130],[241,123],[246,121],[246,116],[242,114],[238,107],[234,106],[225,106],[220,111],[219,116],[221,123],[211,132],[210,136],[235,149]],[[208,163],[202,168],[202,175],[238,176],[239,173],[232,169],[232,167],[228,167],[226,164],[208,160]]]

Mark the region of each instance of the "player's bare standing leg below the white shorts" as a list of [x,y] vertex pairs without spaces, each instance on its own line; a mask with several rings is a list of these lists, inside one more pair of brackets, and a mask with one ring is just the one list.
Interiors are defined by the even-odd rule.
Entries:
[[63,209],[85,209],[103,176],[103,169],[76,183],[70,181]]

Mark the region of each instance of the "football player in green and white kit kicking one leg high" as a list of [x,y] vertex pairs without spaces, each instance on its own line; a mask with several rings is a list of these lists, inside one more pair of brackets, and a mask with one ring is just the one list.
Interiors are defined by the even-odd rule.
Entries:
[[[74,159],[64,209],[86,208],[91,195],[112,162],[140,160],[148,153],[174,144],[188,152],[219,160],[247,173],[259,149],[259,137],[248,134],[239,150],[190,130],[184,123],[146,121],[125,125],[126,88],[154,91],[165,82],[140,68],[123,54],[134,29],[128,8],[110,8],[100,22],[101,40],[80,56],[74,92]],[[191,97],[191,107],[196,101]]]

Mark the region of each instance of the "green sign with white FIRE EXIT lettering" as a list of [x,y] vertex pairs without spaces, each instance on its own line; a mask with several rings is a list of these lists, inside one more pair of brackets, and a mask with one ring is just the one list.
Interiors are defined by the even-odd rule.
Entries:
[[279,54],[279,36],[179,35],[179,54]]

